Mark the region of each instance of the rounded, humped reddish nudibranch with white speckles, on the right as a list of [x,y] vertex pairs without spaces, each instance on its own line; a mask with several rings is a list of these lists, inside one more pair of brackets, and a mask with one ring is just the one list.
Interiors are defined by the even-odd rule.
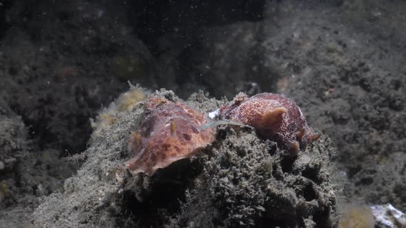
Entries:
[[320,137],[308,127],[299,106],[281,94],[259,93],[248,98],[239,93],[231,105],[220,107],[220,119],[253,126],[259,136],[275,141],[292,154]]

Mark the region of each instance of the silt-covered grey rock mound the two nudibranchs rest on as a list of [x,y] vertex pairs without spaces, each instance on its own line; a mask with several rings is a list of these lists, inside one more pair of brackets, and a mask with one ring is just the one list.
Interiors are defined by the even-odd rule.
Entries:
[[[180,102],[172,91],[153,93]],[[125,162],[129,131],[142,126],[147,100],[117,111],[95,135],[83,166],[63,190],[43,198],[31,227],[334,227],[342,182],[335,148],[323,135],[297,156],[244,126],[220,126],[215,141],[191,158],[149,176]],[[175,104],[175,103],[173,103]],[[202,113],[224,101],[195,93]],[[102,113],[103,115],[103,113]],[[100,130],[100,129],[98,129]]]

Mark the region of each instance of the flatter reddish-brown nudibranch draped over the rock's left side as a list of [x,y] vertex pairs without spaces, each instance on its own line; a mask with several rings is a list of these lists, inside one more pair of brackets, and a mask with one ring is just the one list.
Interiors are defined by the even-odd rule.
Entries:
[[133,173],[151,176],[158,168],[190,157],[215,140],[215,130],[200,130],[204,114],[181,102],[153,97],[145,104],[138,132],[131,131],[128,149],[134,157],[125,163]]

